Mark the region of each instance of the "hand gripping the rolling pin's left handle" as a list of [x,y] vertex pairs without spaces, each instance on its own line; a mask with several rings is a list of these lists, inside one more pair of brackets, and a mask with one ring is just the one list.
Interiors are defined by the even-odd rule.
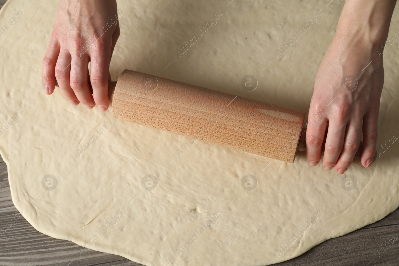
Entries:
[[[116,0],[61,0],[45,57],[43,87],[55,89],[55,78],[64,97],[87,108],[109,107],[109,63],[120,34]],[[89,69],[91,62],[89,88]]]

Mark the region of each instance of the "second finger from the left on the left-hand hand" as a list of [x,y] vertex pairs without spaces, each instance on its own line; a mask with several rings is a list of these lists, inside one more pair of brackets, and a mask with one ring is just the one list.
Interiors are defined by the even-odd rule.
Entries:
[[55,65],[55,77],[57,78],[58,87],[61,89],[61,93],[64,95],[65,99],[69,100],[72,105],[77,105],[79,104],[79,100],[69,85],[70,73],[71,55],[69,51],[61,48],[57,64]]

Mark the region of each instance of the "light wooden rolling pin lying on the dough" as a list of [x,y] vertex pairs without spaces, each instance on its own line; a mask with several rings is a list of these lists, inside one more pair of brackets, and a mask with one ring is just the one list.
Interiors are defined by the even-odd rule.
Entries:
[[[301,111],[131,70],[109,83],[108,95],[113,116],[128,122],[284,162],[306,150]],[[363,142],[354,164],[362,150]]]

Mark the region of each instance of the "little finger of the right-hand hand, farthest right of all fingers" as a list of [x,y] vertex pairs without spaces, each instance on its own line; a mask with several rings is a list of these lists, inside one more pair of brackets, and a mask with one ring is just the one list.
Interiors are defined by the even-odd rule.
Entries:
[[363,152],[361,164],[370,167],[377,146],[378,112],[371,110],[363,117]]

